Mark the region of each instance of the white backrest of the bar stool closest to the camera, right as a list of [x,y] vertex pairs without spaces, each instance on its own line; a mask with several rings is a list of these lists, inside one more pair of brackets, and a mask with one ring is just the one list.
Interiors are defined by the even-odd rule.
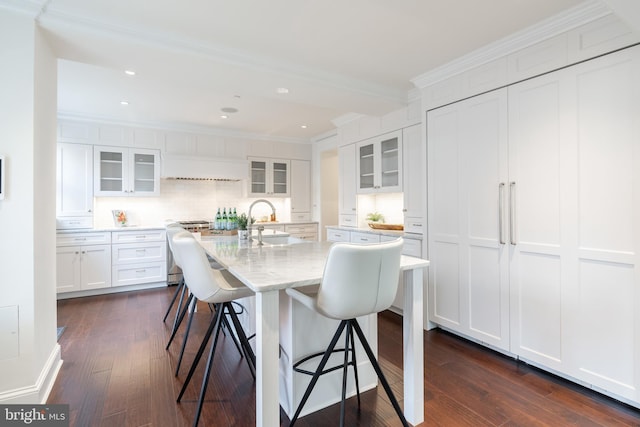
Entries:
[[345,320],[389,308],[398,290],[403,243],[334,244],[318,290],[318,311]]

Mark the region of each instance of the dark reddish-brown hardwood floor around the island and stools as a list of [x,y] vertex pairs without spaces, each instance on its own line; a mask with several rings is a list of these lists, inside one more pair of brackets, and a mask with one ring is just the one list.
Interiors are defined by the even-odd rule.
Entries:
[[[182,403],[183,379],[208,323],[199,308],[180,375],[173,375],[181,337],[165,350],[162,316],[175,288],[58,302],[64,364],[48,403],[70,405],[72,426],[189,426],[202,370]],[[402,404],[402,325],[379,316],[379,356]],[[185,322],[186,323],[186,322]],[[184,329],[184,326],[183,326]],[[425,423],[429,426],[640,426],[640,411],[440,330],[425,332]],[[204,365],[204,364],[202,364]],[[339,405],[300,426],[337,425]],[[384,391],[347,403],[348,426],[400,425]],[[255,425],[255,383],[230,339],[214,361],[201,426]],[[288,425],[282,416],[282,425]]]

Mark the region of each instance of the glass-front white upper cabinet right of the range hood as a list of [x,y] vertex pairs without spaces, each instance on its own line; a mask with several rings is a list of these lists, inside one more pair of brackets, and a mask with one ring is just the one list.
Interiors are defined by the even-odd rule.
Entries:
[[291,161],[249,157],[249,197],[289,197]]

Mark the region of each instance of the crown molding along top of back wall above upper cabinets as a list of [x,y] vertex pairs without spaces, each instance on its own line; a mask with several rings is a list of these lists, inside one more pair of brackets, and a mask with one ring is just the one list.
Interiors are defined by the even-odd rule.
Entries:
[[232,131],[210,126],[190,125],[185,123],[152,122],[152,121],[127,121],[112,117],[78,114],[67,111],[58,111],[58,120],[75,120],[104,125],[142,127],[159,131],[188,132],[201,135],[212,135],[223,138],[248,139],[253,141],[286,142],[289,144],[310,144],[311,138],[297,138],[287,136],[271,136],[266,134]]

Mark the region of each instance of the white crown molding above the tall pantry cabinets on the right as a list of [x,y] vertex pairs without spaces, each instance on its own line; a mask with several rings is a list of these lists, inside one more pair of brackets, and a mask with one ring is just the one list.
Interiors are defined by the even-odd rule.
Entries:
[[542,40],[557,36],[612,13],[601,0],[588,0],[574,8],[518,31],[508,37],[464,55],[441,67],[411,79],[419,89],[461,74],[471,68],[512,54]]

